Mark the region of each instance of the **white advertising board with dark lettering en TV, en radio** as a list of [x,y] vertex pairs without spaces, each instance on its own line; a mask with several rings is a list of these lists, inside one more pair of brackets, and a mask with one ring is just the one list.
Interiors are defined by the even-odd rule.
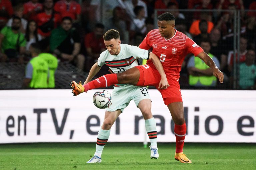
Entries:
[[[0,143],[95,142],[105,113],[93,105],[96,91],[72,96],[71,90],[1,90]],[[157,141],[175,142],[161,94],[149,93]],[[256,91],[182,90],[182,95],[186,142],[256,142]],[[108,142],[143,142],[144,135],[142,114],[131,101]]]

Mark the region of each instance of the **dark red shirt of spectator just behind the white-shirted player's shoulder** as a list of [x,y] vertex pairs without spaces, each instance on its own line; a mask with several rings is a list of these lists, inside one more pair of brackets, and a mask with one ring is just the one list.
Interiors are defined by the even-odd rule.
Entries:
[[94,32],[88,33],[84,37],[85,48],[92,48],[93,53],[101,53],[101,49],[105,48],[103,37],[96,38]]

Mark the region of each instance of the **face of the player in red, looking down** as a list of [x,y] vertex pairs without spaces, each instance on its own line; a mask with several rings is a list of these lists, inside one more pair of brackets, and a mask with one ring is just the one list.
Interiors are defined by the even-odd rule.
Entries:
[[174,21],[157,21],[159,33],[162,37],[169,37],[172,35],[174,29]]

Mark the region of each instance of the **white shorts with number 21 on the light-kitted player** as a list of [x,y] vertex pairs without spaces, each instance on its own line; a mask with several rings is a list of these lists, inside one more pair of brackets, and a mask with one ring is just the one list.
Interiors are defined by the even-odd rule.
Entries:
[[112,105],[106,109],[106,111],[114,112],[118,109],[123,112],[130,101],[133,100],[136,106],[143,99],[150,99],[148,88],[143,86],[124,85],[114,87],[112,91]]

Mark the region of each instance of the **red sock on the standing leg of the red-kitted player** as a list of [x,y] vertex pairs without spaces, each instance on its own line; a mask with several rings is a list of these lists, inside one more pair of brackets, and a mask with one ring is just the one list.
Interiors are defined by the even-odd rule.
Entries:
[[174,125],[174,133],[176,137],[176,153],[183,152],[186,130],[186,123],[184,123],[183,125]]

